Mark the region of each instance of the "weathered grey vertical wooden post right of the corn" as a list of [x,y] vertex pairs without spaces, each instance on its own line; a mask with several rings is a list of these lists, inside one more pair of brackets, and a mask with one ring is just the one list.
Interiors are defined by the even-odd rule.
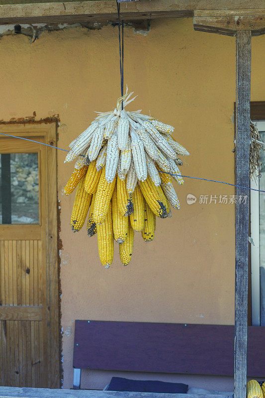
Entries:
[[[236,185],[250,186],[251,31],[236,35]],[[235,398],[246,395],[248,347],[249,189],[236,188]]]

